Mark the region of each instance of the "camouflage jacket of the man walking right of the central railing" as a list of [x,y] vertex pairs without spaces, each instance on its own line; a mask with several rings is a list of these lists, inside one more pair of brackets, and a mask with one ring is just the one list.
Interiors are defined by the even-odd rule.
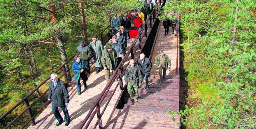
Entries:
[[141,85],[142,83],[142,75],[140,72],[140,67],[137,63],[134,64],[134,68],[132,69],[131,65],[129,64],[125,69],[124,75],[124,82],[125,83],[132,83],[136,85]]

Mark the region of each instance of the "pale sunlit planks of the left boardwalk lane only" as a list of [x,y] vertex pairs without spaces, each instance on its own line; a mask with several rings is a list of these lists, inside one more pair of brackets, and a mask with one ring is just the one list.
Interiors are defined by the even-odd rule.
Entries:
[[[152,26],[153,26],[153,24],[154,24],[154,22],[152,21]],[[151,28],[148,28],[148,35],[150,33],[150,30],[151,30]],[[127,39],[128,39],[128,42],[127,42],[126,51],[130,48],[130,46],[132,44],[131,39],[129,39],[129,38],[127,38]],[[146,42],[146,40],[147,40],[146,37],[142,38],[142,47],[144,46],[144,43]],[[137,46],[138,46],[138,42],[139,41],[137,41],[137,44],[136,44]],[[136,49],[138,49],[138,47]],[[138,58],[140,53],[141,53],[141,50],[138,49],[134,55],[134,58]],[[130,58],[131,58],[131,55],[129,56],[129,59]],[[86,115],[88,114],[90,108],[92,107],[92,105],[94,104],[96,99],[98,98],[98,95],[102,92],[102,90],[104,89],[104,87],[107,84],[105,81],[105,70],[101,69],[101,71],[98,74],[96,74],[95,73],[95,70],[96,70],[95,65],[92,62],[93,61],[90,62],[91,73],[90,73],[90,75],[88,77],[88,81],[87,81],[88,89],[85,90],[82,87],[82,94],[78,95],[78,92],[76,89],[76,84],[75,84],[74,80],[72,80],[72,82],[69,83],[70,87],[68,87],[68,92],[69,92],[69,96],[70,96],[70,103],[68,105],[68,112],[70,115],[70,125],[64,126],[65,125],[65,122],[64,122],[61,125],[59,125],[58,127],[55,126],[55,124],[57,123],[57,120],[54,117],[54,115],[52,114],[52,105],[50,104],[36,118],[36,120],[35,120],[36,125],[35,126],[30,125],[28,127],[29,129],[55,129],[55,128],[56,129],[77,129],[80,126],[80,124],[82,123],[82,121],[84,120]],[[128,61],[126,61],[124,64],[127,65]],[[126,65],[124,66],[123,69],[125,69]],[[114,82],[114,84],[110,88],[110,92],[107,94],[106,98],[102,102],[102,105],[100,106],[100,111],[102,111],[102,109],[104,108],[106,101],[109,99],[110,94],[114,90],[114,87],[116,86],[116,84],[117,84],[117,82]],[[108,119],[112,116],[112,114],[116,108],[116,105],[120,99],[121,92],[122,92],[122,90],[120,90],[120,88],[118,87],[116,90],[116,93],[114,93],[114,96],[112,97],[108,107],[106,108],[104,115],[102,116],[103,126],[106,125],[106,123],[108,122]],[[59,111],[64,119],[64,114],[60,108],[59,108]],[[89,129],[94,127],[96,120],[97,120],[97,118],[95,116],[92,123],[88,127]],[[143,127],[143,126],[140,125],[140,127]],[[120,127],[118,127],[118,125],[116,125],[116,127],[114,127],[114,128],[117,129]],[[125,128],[125,126],[124,126],[124,128]]]

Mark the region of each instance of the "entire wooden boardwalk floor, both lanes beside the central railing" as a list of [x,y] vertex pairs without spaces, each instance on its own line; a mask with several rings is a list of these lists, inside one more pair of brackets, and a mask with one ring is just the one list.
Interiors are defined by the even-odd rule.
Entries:
[[[154,22],[152,22],[153,26]],[[161,22],[160,22],[161,24]],[[162,33],[163,28],[160,26],[160,32],[158,34],[158,39],[156,39],[156,46],[154,53],[152,55],[152,64],[154,64],[154,57],[159,53],[160,50],[170,57],[172,62],[176,62],[174,51],[177,46],[177,42],[174,42],[174,35],[164,36]],[[148,28],[148,35],[151,28]],[[170,29],[171,30],[171,29]],[[177,40],[177,38],[176,38]],[[145,45],[146,38],[142,39],[142,47]],[[131,40],[129,39],[127,44],[128,50],[131,45]],[[168,44],[168,45],[164,45]],[[170,46],[171,44],[171,46]],[[170,48],[173,48],[171,50]],[[134,58],[138,58],[141,50],[138,50],[134,55]],[[173,54],[173,55],[172,55]],[[176,57],[176,56],[175,56]],[[125,62],[128,64],[128,62]],[[123,109],[116,109],[116,105],[120,100],[122,95],[122,90],[117,88],[114,96],[112,97],[104,115],[102,116],[102,124],[104,128],[112,129],[133,129],[133,128],[148,128],[148,129],[157,129],[157,128],[179,128],[176,123],[179,123],[178,115],[169,115],[167,114],[167,109],[177,111],[179,108],[179,76],[174,75],[176,70],[176,64],[172,63],[171,73],[166,76],[166,79],[163,83],[158,83],[158,72],[156,71],[155,65],[151,69],[150,83],[152,87],[149,89],[140,88],[139,89],[139,101],[134,103],[133,101],[128,101],[124,105]],[[125,69],[125,67],[124,67]],[[28,127],[30,129],[77,129],[88,111],[92,107],[94,101],[98,98],[98,95],[104,89],[104,86],[107,84],[105,81],[105,71],[102,70],[98,74],[95,73],[94,64],[91,65],[90,76],[87,81],[88,89],[84,90],[82,87],[82,94],[78,95],[76,84],[74,80],[69,84],[68,92],[70,95],[70,103],[68,106],[68,111],[70,115],[70,125],[67,127],[64,126],[65,123],[62,123],[60,126],[56,127],[57,122],[56,118],[52,114],[52,105],[48,105],[46,109],[36,118],[36,125]],[[169,73],[168,71],[166,73]],[[102,102],[100,110],[106,105],[106,100],[109,98],[111,91],[114,90],[117,82],[114,82],[110,88],[110,92],[106,96],[105,100]],[[142,84],[144,87],[144,83]],[[59,109],[62,117],[64,114],[61,109]],[[175,121],[171,121],[171,118],[175,117]],[[96,117],[94,117],[89,128],[93,128],[94,123],[96,122]],[[98,127],[97,127],[98,128]]]

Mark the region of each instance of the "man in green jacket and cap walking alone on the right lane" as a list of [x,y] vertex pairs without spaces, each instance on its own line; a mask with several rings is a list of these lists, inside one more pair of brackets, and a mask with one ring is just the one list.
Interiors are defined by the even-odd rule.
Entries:
[[171,60],[163,51],[156,56],[156,69],[159,70],[160,83],[165,79],[166,70],[171,68]]

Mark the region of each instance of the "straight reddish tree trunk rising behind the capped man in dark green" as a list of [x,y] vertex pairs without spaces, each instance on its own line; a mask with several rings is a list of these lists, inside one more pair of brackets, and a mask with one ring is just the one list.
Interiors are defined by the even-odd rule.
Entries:
[[78,4],[78,7],[80,10],[80,16],[81,16],[81,20],[82,20],[82,31],[83,31],[83,37],[84,37],[84,44],[88,45],[87,30],[86,30],[85,16],[84,16],[84,5],[80,2]]

